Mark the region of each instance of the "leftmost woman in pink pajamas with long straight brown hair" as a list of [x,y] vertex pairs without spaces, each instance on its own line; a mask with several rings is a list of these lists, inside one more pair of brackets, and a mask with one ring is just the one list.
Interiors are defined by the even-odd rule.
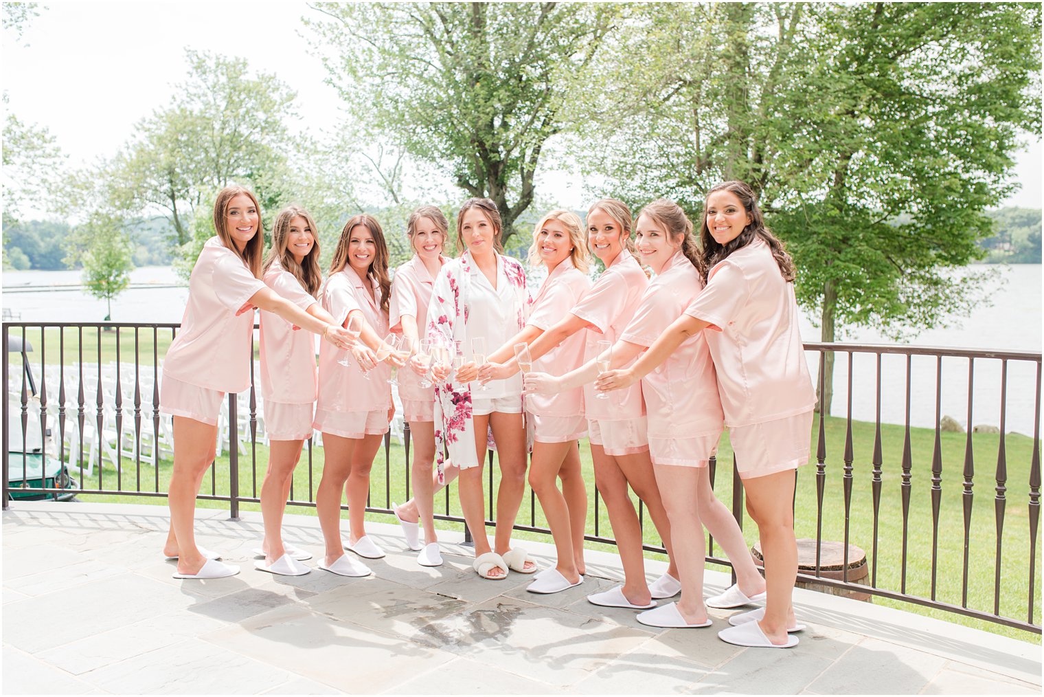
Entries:
[[214,461],[217,416],[228,392],[251,386],[250,353],[254,307],[349,346],[343,328],[323,322],[274,293],[260,279],[261,211],[240,186],[221,189],[214,202],[216,236],[207,240],[189,279],[182,328],[163,363],[160,411],[173,416],[174,469],[167,499],[170,532],[164,555],[177,560],[174,578],[211,579],[239,573],[217,561],[219,554],[196,547],[195,497]]

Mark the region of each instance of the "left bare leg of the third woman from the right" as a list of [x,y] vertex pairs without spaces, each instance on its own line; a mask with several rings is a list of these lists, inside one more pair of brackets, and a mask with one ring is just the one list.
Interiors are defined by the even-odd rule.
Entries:
[[609,512],[609,522],[616,538],[623,565],[623,597],[634,605],[648,605],[652,600],[645,583],[645,557],[642,554],[642,531],[638,514],[627,493],[627,479],[617,459],[606,455],[601,445],[591,444],[594,481]]

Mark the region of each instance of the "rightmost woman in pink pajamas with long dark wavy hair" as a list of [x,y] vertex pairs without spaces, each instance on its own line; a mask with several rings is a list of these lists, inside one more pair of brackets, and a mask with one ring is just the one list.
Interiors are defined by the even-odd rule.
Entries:
[[598,386],[626,387],[704,334],[748,511],[758,524],[767,585],[765,608],[730,618],[735,626],[718,636],[740,646],[792,647],[798,638],[790,632],[803,626],[790,604],[798,573],[791,503],[794,470],[808,462],[815,405],[798,329],[793,263],[742,182],[710,190],[701,236],[706,288],[644,356],[602,376]]

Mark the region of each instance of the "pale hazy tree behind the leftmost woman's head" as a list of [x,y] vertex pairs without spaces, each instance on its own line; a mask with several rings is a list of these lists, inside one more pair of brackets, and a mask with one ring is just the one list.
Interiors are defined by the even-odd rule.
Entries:
[[112,204],[127,213],[161,211],[174,246],[190,242],[195,209],[229,184],[253,186],[264,211],[291,188],[286,119],[295,93],[275,75],[252,76],[241,59],[187,56],[189,78],[171,103],[139,122],[108,167]]

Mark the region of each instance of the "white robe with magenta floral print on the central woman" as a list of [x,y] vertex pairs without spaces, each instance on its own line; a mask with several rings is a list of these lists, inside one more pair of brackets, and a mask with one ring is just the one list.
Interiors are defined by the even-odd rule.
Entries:
[[[515,318],[516,326],[513,329],[521,331],[525,326],[530,302],[525,271],[518,260],[509,256],[498,256],[507,282],[515,291],[507,316]],[[452,346],[454,340],[465,340],[471,311],[469,303],[474,264],[471,252],[465,252],[460,257],[447,261],[438,272],[431,293],[431,303],[428,305],[428,339],[441,341],[447,346]],[[446,449],[449,450],[453,464],[461,469],[479,465],[478,454],[475,451],[471,399],[471,385],[456,382],[452,375],[445,381],[435,384],[435,458],[440,482],[443,481]]]

